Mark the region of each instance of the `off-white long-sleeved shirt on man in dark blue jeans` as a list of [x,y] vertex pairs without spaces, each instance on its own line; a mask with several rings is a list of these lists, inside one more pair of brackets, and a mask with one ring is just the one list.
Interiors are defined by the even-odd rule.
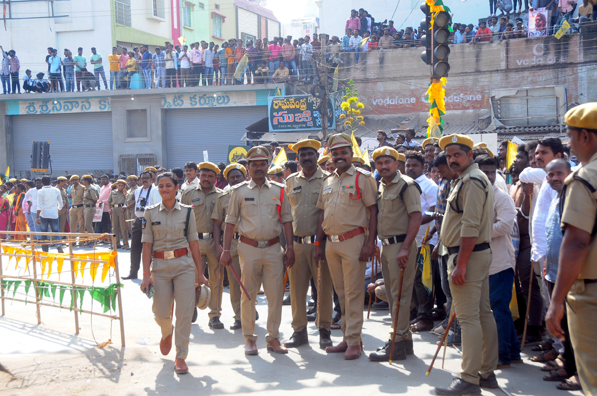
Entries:
[[512,243],[512,228],[516,221],[514,200],[495,183],[493,185],[494,210],[493,231],[491,233],[491,265],[489,274],[497,274],[509,268],[514,268],[514,245]]

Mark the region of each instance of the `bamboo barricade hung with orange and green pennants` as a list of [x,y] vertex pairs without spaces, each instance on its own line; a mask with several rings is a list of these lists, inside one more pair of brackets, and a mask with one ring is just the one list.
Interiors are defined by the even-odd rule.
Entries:
[[[104,313],[98,313],[98,312],[93,312],[93,311],[88,311],[88,310],[83,310],[82,308],[78,307],[78,299],[77,299],[77,289],[89,289],[90,287],[93,286],[87,286],[84,284],[78,284],[75,283],[75,265],[73,264],[73,262],[81,262],[81,261],[85,261],[88,263],[95,263],[95,264],[108,264],[109,261],[107,260],[101,260],[101,259],[91,259],[91,258],[78,258],[76,256],[73,255],[73,243],[76,243],[76,238],[79,238],[79,242],[81,242],[81,240],[85,240],[85,241],[93,241],[93,240],[99,240],[105,237],[109,237],[111,242],[112,242],[112,249],[115,248],[116,246],[116,235],[115,234],[87,234],[87,233],[41,233],[41,232],[35,232],[35,231],[7,231],[7,234],[10,235],[23,235],[23,236],[29,236],[30,237],[30,241],[27,242],[26,240],[21,240],[19,242],[13,242],[13,240],[10,240],[10,245],[7,242],[6,239],[0,239],[0,280],[4,281],[4,279],[16,279],[16,280],[24,280],[24,281],[31,281],[32,282],[32,286],[35,289],[35,305],[36,305],[36,317],[37,317],[37,321],[38,324],[41,324],[41,307],[52,307],[52,308],[64,308],[64,309],[71,309],[71,307],[68,307],[66,305],[62,305],[62,304],[50,304],[48,302],[44,302],[42,301],[42,295],[40,292],[40,288],[38,285],[39,281],[42,281],[41,276],[38,276],[38,271],[37,271],[37,263],[39,260],[41,260],[41,256],[39,255],[38,250],[35,249],[35,246],[37,245],[38,247],[40,245],[47,245],[47,246],[51,246],[54,245],[55,243],[68,243],[69,246],[69,253],[67,255],[64,255],[64,261],[69,261],[70,262],[70,283],[66,283],[66,282],[60,282],[60,281],[51,281],[51,283],[53,284],[57,284],[57,285],[62,285],[62,286],[70,286],[72,287],[72,311],[75,315],[75,335],[79,334],[79,313],[84,313],[84,314],[89,314],[89,315],[96,315],[96,316],[100,316],[100,317],[107,317],[107,318],[111,318],[113,320],[118,320],[119,324],[120,324],[120,336],[121,336],[121,345],[122,347],[125,346],[125,337],[124,337],[124,320],[122,318],[122,296],[121,296],[121,287],[120,285],[120,274],[119,274],[119,270],[118,270],[118,255],[116,255],[114,257],[114,273],[115,273],[115,277],[116,277],[116,300],[117,300],[117,304],[118,304],[118,314],[117,315],[107,315]],[[48,236],[48,240],[44,240],[44,241],[36,241],[34,240],[34,236]],[[59,237],[59,239],[57,240],[51,240],[51,236],[54,237]],[[61,240],[61,237],[67,237],[68,239],[65,240]],[[29,245],[30,249],[31,249],[31,253],[18,253],[18,249],[15,250],[14,253],[7,253],[4,252],[4,249],[2,248],[3,245],[5,246],[11,246],[16,248],[16,246],[14,245],[20,245],[22,246],[21,249],[24,249],[24,245]],[[8,256],[8,259],[10,260],[11,257],[14,258],[24,258],[27,262],[30,262],[32,270],[33,270],[33,277],[31,276],[12,276],[12,275],[7,275],[4,274],[4,263],[2,261],[2,258],[4,256]],[[48,270],[49,272],[49,270]],[[14,295],[14,293],[13,293]],[[17,301],[17,302],[27,302],[25,299],[20,299],[20,298],[14,298],[14,297],[10,297],[5,295],[5,290],[4,287],[0,287],[0,302],[1,302],[1,308],[2,308],[2,316],[5,315],[5,301],[9,300],[9,301]]]

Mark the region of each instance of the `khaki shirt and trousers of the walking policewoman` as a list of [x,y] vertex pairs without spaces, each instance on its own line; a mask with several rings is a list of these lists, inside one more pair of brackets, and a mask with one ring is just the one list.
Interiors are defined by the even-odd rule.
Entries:
[[184,236],[189,206],[176,202],[168,212],[162,203],[149,206],[144,212],[141,242],[152,243],[152,252],[170,252],[187,249],[186,255],[173,259],[153,258],[153,314],[162,330],[162,338],[173,333],[172,303],[176,301],[174,345],[176,357],[186,359],[189,353],[189,336],[195,310],[195,281],[197,270],[189,249],[189,242],[198,240],[195,218],[190,216],[187,236]]

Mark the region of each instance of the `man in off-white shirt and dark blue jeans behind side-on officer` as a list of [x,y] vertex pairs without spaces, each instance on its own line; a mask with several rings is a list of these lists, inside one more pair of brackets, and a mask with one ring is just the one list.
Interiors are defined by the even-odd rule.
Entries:
[[522,363],[521,345],[516,337],[516,328],[510,312],[512,286],[514,284],[514,245],[512,233],[516,221],[514,200],[496,185],[496,161],[490,156],[480,155],[475,163],[493,185],[494,215],[491,251],[493,256],[489,267],[489,290],[491,311],[496,320],[498,335],[497,369],[510,367],[510,363]]

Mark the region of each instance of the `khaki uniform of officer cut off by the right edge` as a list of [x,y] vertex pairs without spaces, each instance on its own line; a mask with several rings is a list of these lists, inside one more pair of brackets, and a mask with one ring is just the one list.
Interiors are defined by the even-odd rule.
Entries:
[[567,225],[573,225],[591,234],[583,267],[568,292],[566,302],[578,377],[584,394],[597,395],[597,238],[594,235],[597,194],[583,181],[593,189],[597,187],[597,153],[586,165],[568,175],[562,191],[562,230],[565,232]]

